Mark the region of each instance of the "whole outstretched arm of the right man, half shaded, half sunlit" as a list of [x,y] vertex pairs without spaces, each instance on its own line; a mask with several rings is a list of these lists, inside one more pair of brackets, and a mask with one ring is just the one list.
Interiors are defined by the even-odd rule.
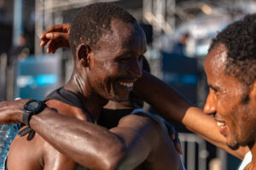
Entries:
[[152,105],[167,121],[182,123],[192,132],[239,159],[247,153],[245,147],[230,150],[226,145],[226,139],[219,133],[213,116],[204,114],[200,108],[191,105],[171,86],[146,71],[143,71],[143,77],[136,82],[135,90],[136,94]]

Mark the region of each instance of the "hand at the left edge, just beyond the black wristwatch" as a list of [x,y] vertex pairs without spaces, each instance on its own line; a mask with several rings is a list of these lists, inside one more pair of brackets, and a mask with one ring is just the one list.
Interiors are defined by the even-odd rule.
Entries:
[[0,102],[0,123],[22,122],[23,107],[31,99]]

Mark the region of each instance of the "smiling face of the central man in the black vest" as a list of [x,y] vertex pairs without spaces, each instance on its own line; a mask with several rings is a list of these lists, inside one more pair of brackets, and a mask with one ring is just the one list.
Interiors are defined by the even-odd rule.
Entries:
[[111,32],[104,34],[88,55],[90,87],[104,99],[128,100],[134,82],[142,77],[145,52],[145,35],[137,22],[113,20]]

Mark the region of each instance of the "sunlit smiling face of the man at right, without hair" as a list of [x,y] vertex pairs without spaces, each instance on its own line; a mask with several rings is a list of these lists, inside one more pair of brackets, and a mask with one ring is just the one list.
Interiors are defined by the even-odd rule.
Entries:
[[[207,54],[205,69],[210,91],[204,112],[215,117],[219,132],[226,137],[230,148],[236,150],[239,145],[247,145],[255,138],[255,92],[247,94],[246,85],[225,72],[226,59],[224,44],[216,45]],[[249,99],[245,103],[246,95]]]

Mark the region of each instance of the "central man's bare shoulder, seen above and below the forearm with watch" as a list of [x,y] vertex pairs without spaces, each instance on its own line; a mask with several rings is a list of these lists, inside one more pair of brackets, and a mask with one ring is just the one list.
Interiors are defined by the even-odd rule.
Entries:
[[[46,104],[60,112],[60,114],[87,121],[84,112],[71,105],[57,100],[49,100]],[[56,167],[55,169],[76,169],[76,163],[74,161],[61,155],[58,150],[55,150],[38,133],[28,133],[23,137],[18,135],[15,137],[10,146],[7,165],[9,169],[13,170],[52,169],[53,166]],[[83,168],[80,167],[80,169]]]

